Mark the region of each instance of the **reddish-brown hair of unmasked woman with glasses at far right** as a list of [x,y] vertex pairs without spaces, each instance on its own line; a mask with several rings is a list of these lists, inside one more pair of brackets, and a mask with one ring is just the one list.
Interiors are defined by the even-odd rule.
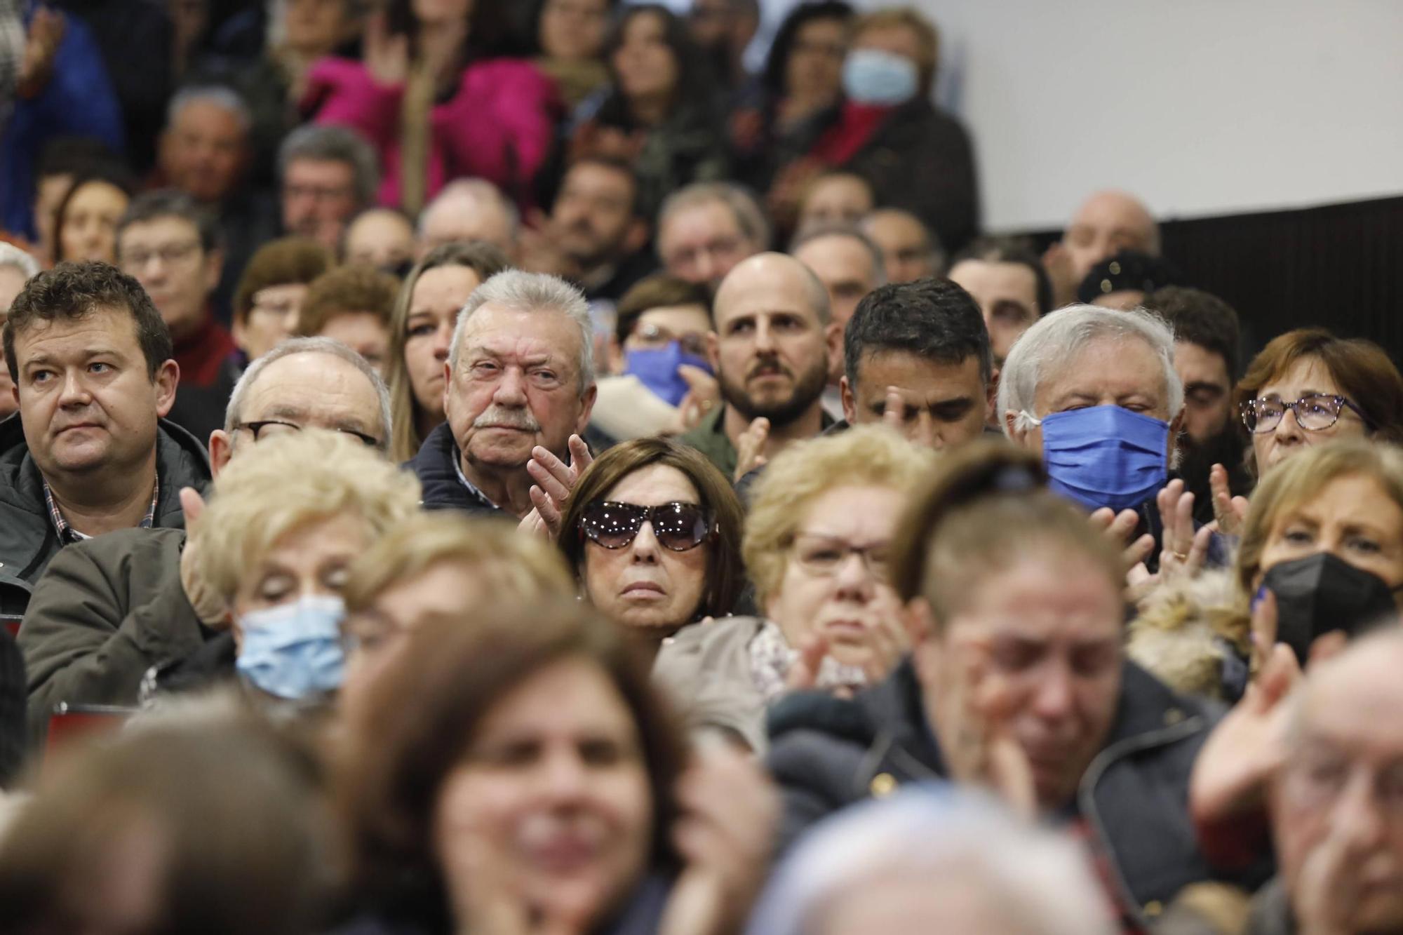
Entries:
[[1251,359],[1233,390],[1233,402],[1256,399],[1299,359],[1319,358],[1340,393],[1364,413],[1365,428],[1379,441],[1403,442],[1403,375],[1374,341],[1336,337],[1326,329],[1296,329],[1273,338]]

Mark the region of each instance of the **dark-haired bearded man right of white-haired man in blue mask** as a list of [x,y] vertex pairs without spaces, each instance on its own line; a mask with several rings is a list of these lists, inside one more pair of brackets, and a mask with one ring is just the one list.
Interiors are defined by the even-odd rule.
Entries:
[[1230,305],[1201,289],[1164,286],[1145,298],[1143,307],[1174,330],[1174,369],[1184,380],[1184,432],[1180,435],[1179,475],[1194,494],[1194,519],[1214,519],[1209,475],[1214,465],[1228,472],[1232,496],[1251,491],[1243,463],[1242,425],[1232,411],[1237,378],[1240,333]]

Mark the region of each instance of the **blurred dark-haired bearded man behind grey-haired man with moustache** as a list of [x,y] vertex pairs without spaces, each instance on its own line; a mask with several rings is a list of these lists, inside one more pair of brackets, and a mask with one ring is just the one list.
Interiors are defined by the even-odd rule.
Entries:
[[640,253],[648,243],[648,222],[637,209],[638,181],[626,163],[577,160],[550,216],[522,230],[522,268],[578,282],[591,302],[617,302],[657,267]]

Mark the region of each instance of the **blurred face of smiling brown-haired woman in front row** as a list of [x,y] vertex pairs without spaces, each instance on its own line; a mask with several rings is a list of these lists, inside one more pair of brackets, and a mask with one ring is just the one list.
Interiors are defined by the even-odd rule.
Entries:
[[592,928],[645,872],[652,809],[627,703],[595,663],[565,658],[478,723],[438,789],[434,848],[456,904],[487,862],[539,915]]

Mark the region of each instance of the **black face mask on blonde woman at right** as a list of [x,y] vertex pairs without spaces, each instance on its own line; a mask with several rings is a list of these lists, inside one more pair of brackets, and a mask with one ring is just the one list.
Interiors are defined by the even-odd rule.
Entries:
[[1295,650],[1302,665],[1316,637],[1331,630],[1352,637],[1399,612],[1399,588],[1330,552],[1274,564],[1261,585],[1277,597],[1277,642]]

